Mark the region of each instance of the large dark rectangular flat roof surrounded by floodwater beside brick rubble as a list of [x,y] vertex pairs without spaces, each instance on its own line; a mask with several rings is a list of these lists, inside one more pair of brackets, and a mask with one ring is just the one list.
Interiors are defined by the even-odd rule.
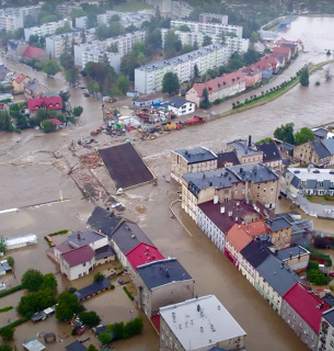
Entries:
[[154,174],[145,165],[131,143],[100,149],[99,155],[117,189],[138,185],[154,179]]

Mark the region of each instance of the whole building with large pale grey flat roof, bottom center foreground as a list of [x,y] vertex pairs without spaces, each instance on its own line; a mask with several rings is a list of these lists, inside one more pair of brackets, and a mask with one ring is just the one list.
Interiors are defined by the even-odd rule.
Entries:
[[161,351],[240,350],[245,331],[215,295],[160,308]]

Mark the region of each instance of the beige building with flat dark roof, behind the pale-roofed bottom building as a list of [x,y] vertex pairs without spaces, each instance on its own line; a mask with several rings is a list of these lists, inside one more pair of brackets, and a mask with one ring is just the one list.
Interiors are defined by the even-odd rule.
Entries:
[[148,317],[162,306],[194,297],[194,279],[174,258],[137,267],[138,305]]

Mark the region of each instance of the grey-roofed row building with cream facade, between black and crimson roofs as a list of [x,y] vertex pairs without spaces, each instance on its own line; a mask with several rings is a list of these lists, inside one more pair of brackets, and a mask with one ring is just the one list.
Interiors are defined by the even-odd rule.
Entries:
[[257,268],[255,288],[281,315],[283,296],[297,283],[299,276],[284,262],[269,254]]

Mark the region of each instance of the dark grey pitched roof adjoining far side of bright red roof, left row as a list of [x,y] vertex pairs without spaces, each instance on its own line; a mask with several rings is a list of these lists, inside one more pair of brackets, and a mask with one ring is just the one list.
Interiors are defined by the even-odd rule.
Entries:
[[119,250],[127,254],[139,242],[153,246],[152,241],[135,223],[123,222],[122,225],[112,235],[112,240],[118,246]]

